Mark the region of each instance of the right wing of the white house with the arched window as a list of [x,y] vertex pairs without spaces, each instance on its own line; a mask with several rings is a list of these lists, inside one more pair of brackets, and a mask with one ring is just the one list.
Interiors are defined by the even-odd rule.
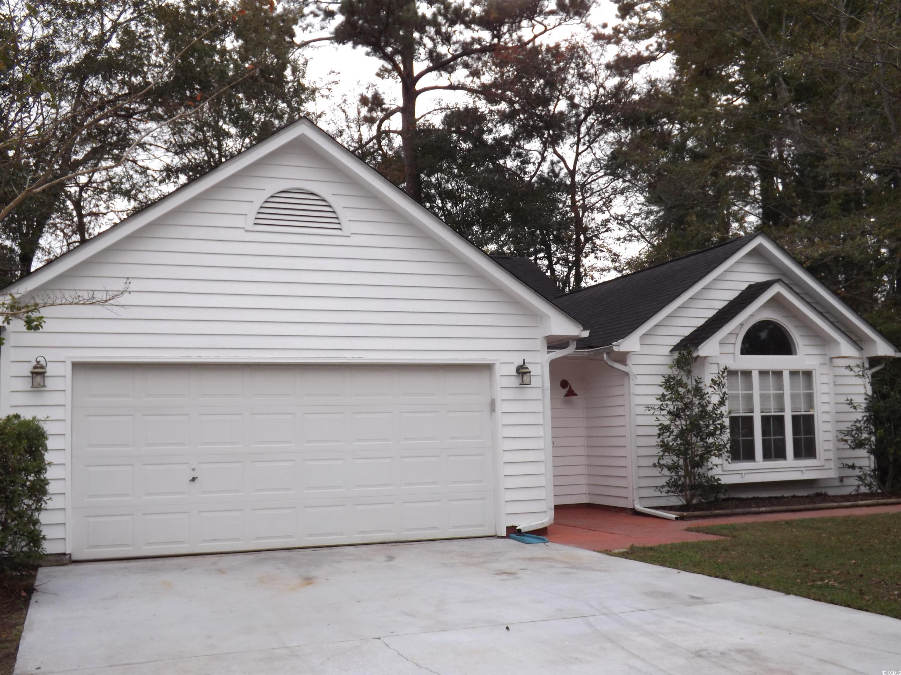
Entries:
[[732,495],[856,486],[842,464],[869,457],[839,439],[865,393],[852,369],[899,355],[772,239],[735,238],[554,302],[590,330],[551,364],[556,504],[673,503],[657,490],[649,409],[686,346],[706,377],[729,368],[732,456],[715,473]]

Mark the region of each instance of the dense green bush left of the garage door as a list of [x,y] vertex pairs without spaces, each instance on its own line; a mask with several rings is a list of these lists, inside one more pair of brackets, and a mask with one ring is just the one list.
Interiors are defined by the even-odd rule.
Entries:
[[47,431],[37,418],[0,419],[0,570],[37,563],[48,500]]

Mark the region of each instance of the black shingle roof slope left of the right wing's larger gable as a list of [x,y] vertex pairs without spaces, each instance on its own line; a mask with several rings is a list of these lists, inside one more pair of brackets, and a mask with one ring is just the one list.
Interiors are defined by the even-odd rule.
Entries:
[[638,329],[756,236],[734,238],[631,275],[569,293],[553,302],[581,323],[583,328],[591,331],[587,338],[578,341],[579,349],[609,347]]

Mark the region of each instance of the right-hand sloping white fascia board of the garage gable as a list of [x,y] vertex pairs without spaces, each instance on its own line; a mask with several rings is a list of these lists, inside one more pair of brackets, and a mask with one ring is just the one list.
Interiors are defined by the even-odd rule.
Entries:
[[500,285],[507,293],[513,295],[516,300],[542,317],[542,336],[555,336],[562,338],[585,337],[586,331],[580,323],[574,320],[566,312],[560,310],[555,304],[545,300],[540,294],[532,291],[514,275],[511,275],[503,267],[496,264],[487,254],[473,246],[466,238],[451,229],[447,223],[426,209],[422,204],[415,202],[409,195],[397,189],[384,176],[374,168],[361,161],[341,143],[332,139],[323,130],[310,123],[306,129],[306,139],[314,143],[329,157],[337,162],[341,168],[351,175],[359,178],[360,182],[369,186],[379,197],[386,200],[397,211],[405,215],[411,222],[420,225],[432,238],[441,242],[444,247],[458,254],[470,265]]

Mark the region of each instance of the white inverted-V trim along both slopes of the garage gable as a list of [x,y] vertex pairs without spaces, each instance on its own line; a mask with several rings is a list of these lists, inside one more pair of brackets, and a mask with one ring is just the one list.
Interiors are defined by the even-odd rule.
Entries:
[[321,151],[325,157],[334,161],[342,170],[357,178],[360,184],[369,188],[376,196],[384,199],[398,213],[409,218],[411,222],[425,229],[432,238],[439,241],[444,247],[462,257],[471,266],[478,269],[488,279],[498,284],[523,305],[535,311],[542,317],[542,333],[545,336],[557,338],[571,338],[578,335],[586,335],[586,331],[578,324],[577,320],[544,298],[541,293],[536,293],[528,284],[523,284],[515,275],[510,274],[503,266],[472,244],[467,238],[438,218],[432,211],[422,204],[415,202],[403,190],[379,174],[374,168],[366,164],[350,150],[344,148],[341,143],[329,136],[325,131],[317,127],[313,121],[302,118],[282,129],[276,131],[267,139],[263,139],[238,153],[221,165],[216,166],[205,175],[201,175],[168,193],[166,196],[152,202],[147,207],[133,213],[128,218],[116,223],[96,237],[88,239],[85,243],[69,250],[39,267],[31,275],[7,286],[3,293],[28,293],[34,291],[43,284],[47,284],[53,278],[67,272],[73,266],[94,256],[96,253],[113,245],[120,239],[144,225],[158,219],[168,211],[176,209],[181,204],[195,197],[199,193],[208,190],[220,183],[230,175],[240,171],[245,166],[265,157],[269,153],[281,148],[288,142],[304,138],[311,146]]

